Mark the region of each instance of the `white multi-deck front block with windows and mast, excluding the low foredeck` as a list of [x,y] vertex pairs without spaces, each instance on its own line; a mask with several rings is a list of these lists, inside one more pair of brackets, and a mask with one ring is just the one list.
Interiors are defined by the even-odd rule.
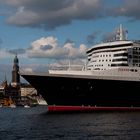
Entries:
[[122,26],[114,41],[100,43],[87,51],[88,70],[107,70],[116,67],[140,66],[140,42],[126,40]]

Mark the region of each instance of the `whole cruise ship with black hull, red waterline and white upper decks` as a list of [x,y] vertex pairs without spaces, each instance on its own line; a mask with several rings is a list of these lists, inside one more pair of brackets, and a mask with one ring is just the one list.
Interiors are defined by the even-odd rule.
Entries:
[[86,51],[78,69],[20,73],[47,101],[49,112],[140,110],[140,41],[128,40],[122,25],[115,39]]

